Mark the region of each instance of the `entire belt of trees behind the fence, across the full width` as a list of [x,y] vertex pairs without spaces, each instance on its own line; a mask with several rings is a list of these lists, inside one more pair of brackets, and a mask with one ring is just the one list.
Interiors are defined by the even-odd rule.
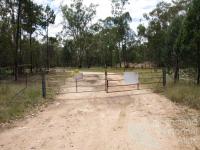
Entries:
[[[200,1],[159,2],[143,15],[137,33],[126,10],[128,0],[111,0],[111,16],[96,20],[98,5],[71,0],[61,7],[62,34],[49,37],[56,15],[50,6],[32,0],[0,1],[0,67],[17,74],[46,67],[129,67],[149,62],[174,70],[193,68],[200,80]],[[142,18],[141,18],[142,19]],[[38,38],[38,35],[43,38]]]

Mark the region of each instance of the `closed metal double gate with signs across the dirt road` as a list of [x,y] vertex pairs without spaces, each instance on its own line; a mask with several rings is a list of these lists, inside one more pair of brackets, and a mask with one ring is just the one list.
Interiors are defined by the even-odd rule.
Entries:
[[[129,75],[128,75],[129,74]],[[127,77],[126,77],[127,76]],[[138,79],[137,79],[138,78]],[[132,80],[132,81],[131,81]],[[63,93],[83,92],[124,92],[140,89],[151,89],[149,85],[165,86],[166,74],[160,72],[124,72],[109,73],[84,72],[68,80],[67,91]]]

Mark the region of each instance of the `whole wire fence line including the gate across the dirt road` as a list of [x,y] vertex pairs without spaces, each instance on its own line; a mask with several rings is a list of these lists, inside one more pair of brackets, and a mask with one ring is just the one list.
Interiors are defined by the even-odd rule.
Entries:
[[[50,97],[52,93],[63,93],[60,87],[61,85],[65,85],[66,82],[70,85],[66,88],[74,88],[75,90],[73,92],[108,92],[109,89],[115,87],[151,89],[157,86],[162,88],[163,86],[166,86],[167,82],[173,80],[173,73],[167,74],[166,69],[156,68],[151,70],[136,70],[135,72],[138,72],[139,74],[139,84],[125,84],[122,72],[84,74],[84,80],[69,80],[68,77],[72,76],[73,71],[66,72],[65,69],[60,69],[56,71],[50,70],[49,73],[25,73],[19,77],[18,81],[13,81],[12,79],[10,79],[10,77],[7,77],[5,80],[0,80],[0,88],[1,91],[11,91],[8,96],[9,99],[15,99],[20,95],[23,95],[25,91],[30,87],[39,89],[40,96],[46,98]],[[191,78],[191,76],[188,75],[186,71],[180,71],[180,79],[190,82],[195,81],[195,78]],[[11,87],[11,90],[9,89],[9,87]]]

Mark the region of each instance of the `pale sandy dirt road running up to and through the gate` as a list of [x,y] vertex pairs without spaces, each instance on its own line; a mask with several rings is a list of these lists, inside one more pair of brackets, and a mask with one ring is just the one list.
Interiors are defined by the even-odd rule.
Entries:
[[[110,88],[103,74],[66,81],[56,101],[0,132],[1,150],[198,150],[199,114],[136,87]],[[120,79],[120,75],[110,75]],[[72,81],[72,79],[70,79]],[[123,84],[122,82],[109,83]],[[99,85],[99,86],[97,86]],[[96,92],[83,92],[96,91]],[[112,92],[124,91],[124,92]]]

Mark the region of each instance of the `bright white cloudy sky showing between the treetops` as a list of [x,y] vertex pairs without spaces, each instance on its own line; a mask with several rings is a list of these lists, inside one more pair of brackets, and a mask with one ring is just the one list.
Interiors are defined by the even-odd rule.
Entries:
[[[34,2],[46,6],[50,5],[54,9],[56,14],[56,20],[54,25],[49,27],[49,35],[55,36],[60,31],[62,31],[62,12],[61,6],[70,4],[71,0],[33,0]],[[147,25],[147,22],[143,19],[144,13],[149,13],[156,7],[156,4],[160,1],[171,2],[171,0],[129,0],[129,5],[126,6],[126,11],[128,11],[132,17],[132,22],[130,27],[137,32],[137,26],[142,23]],[[83,0],[85,5],[90,3],[98,4],[97,14],[94,21],[98,19],[105,19],[111,16],[111,0]]]

